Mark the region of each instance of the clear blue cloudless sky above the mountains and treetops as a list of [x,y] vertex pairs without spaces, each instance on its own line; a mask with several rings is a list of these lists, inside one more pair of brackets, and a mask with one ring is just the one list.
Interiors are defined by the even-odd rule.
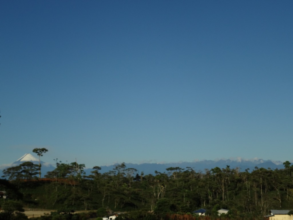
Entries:
[[[293,1],[1,1],[0,164],[292,160]],[[35,155],[37,156],[37,155]]]

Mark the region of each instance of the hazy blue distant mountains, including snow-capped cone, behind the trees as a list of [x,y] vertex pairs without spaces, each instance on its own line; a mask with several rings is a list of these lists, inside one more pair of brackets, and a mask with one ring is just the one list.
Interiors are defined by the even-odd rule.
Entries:
[[[0,165],[0,177],[3,175],[2,170],[7,167],[13,167],[17,166],[23,162],[30,161],[35,164],[39,163],[39,160],[35,158],[30,153],[26,153],[21,158],[16,160],[15,162],[9,164],[9,165]],[[50,163],[45,163],[41,161],[42,167],[42,177],[46,175],[47,172],[54,170],[56,167],[53,166]],[[113,164],[110,166],[101,166],[101,173],[108,172],[110,170],[113,170],[115,166],[118,164]],[[166,169],[169,167],[180,167],[182,169],[186,169],[186,167],[191,167],[196,172],[205,172],[206,169],[210,170],[215,167],[219,168],[226,168],[227,165],[230,166],[230,169],[235,169],[238,167],[240,172],[244,172],[246,169],[249,169],[249,172],[255,170],[255,167],[258,168],[265,168],[265,169],[283,169],[284,165],[281,161],[272,161],[272,160],[262,160],[262,159],[254,159],[254,160],[244,160],[244,159],[237,159],[237,160],[202,160],[197,162],[182,162],[182,163],[164,163],[164,164],[158,164],[158,163],[142,163],[142,164],[133,164],[133,163],[125,163],[126,168],[134,168],[138,171],[140,174],[141,172],[144,172],[144,175],[147,174],[155,174],[155,171],[157,172],[167,172]],[[86,175],[91,174],[91,171],[93,169],[87,168],[84,171],[86,172]]]

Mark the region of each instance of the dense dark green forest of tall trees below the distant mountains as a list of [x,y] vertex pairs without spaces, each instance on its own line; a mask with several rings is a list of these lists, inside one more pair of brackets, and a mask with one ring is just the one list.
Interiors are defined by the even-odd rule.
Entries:
[[222,208],[229,210],[230,219],[262,219],[270,209],[293,209],[293,166],[288,161],[280,170],[255,167],[239,172],[226,166],[195,172],[192,167],[169,167],[163,173],[154,171],[155,175],[144,175],[124,163],[107,173],[95,166],[91,175],[85,175],[84,167],[56,159],[56,169],[39,178],[40,165],[25,162],[4,170],[0,190],[6,201],[19,201],[27,208],[138,215],[130,219],[182,216],[200,208],[208,216],[217,216]]

